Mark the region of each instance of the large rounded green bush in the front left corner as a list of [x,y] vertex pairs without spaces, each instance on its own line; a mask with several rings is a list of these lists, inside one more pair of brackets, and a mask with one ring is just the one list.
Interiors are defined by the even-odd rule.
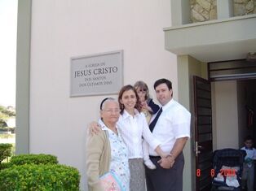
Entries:
[[0,190],[78,191],[76,168],[60,164],[25,164],[0,171]]

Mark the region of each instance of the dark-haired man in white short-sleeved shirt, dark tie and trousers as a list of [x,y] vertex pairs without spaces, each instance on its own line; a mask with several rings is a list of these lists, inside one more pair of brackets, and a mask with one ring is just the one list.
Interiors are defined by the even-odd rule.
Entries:
[[184,106],[172,98],[173,91],[170,80],[157,80],[154,89],[162,107],[161,111],[158,111],[161,112],[161,115],[156,124],[152,119],[152,124],[155,124],[155,127],[150,128],[153,136],[161,141],[161,150],[169,155],[166,158],[160,158],[154,150],[149,150],[150,159],[157,169],[146,168],[147,189],[148,191],[182,191],[183,147],[190,137],[191,115]]

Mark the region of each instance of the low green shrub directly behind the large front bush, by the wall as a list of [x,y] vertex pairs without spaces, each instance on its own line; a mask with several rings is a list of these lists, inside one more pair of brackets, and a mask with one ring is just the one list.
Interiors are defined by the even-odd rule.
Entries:
[[23,164],[57,164],[57,157],[51,154],[19,154],[12,156],[11,165]]

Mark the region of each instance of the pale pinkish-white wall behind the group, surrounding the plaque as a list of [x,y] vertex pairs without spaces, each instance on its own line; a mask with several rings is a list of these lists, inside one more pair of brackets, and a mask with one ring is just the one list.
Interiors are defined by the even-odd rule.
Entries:
[[[30,68],[26,67],[30,76],[25,77],[30,85],[25,90],[29,92],[25,100],[30,97],[29,121],[24,119],[29,144],[24,148],[55,154],[60,163],[77,167],[86,190],[86,125],[99,118],[99,102],[107,95],[70,98],[70,58],[124,50],[125,85],[144,80],[155,98],[153,82],[166,77],[177,98],[176,57],[165,50],[162,31],[171,24],[170,1],[47,0],[33,1],[31,10],[30,51],[20,58],[20,66],[30,58]],[[21,112],[20,107],[20,116]],[[22,139],[17,144],[23,144],[26,138]]]

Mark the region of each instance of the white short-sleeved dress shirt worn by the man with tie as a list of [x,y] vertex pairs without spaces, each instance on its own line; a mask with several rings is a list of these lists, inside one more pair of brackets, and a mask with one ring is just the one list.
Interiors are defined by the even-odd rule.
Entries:
[[[156,116],[153,116],[152,120],[154,117]],[[152,131],[153,136],[161,142],[161,150],[170,153],[176,139],[190,137],[190,119],[189,111],[174,99],[162,106],[162,113]],[[149,154],[158,155],[152,148],[149,148]]]

